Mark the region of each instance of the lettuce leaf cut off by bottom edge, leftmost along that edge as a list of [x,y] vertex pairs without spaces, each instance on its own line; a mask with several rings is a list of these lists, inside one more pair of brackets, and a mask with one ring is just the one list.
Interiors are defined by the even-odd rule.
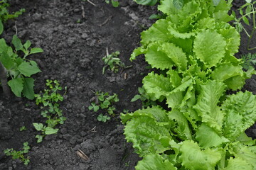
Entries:
[[146,155],[139,161],[137,166],[135,166],[136,170],[176,170],[168,159],[164,159],[159,154],[149,154]]

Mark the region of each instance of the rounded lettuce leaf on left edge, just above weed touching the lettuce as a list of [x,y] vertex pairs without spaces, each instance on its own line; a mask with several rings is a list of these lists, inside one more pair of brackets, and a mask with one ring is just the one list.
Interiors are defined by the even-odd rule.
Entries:
[[159,99],[161,96],[166,96],[173,88],[170,80],[163,75],[149,73],[142,80],[143,87],[147,94],[150,94],[152,99]]

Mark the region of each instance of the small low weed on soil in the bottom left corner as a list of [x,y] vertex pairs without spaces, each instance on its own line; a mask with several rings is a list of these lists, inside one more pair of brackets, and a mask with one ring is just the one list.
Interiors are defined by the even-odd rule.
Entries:
[[29,157],[25,157],[24,154],[27,154],[29,149],[30,147],[28,146],[28,142],[24,142],[23,150],[16,151],[13,148],[5,149],[4,154],[6,154],[6,156],[12,156],[12,159],[20,159],[23,162],[23,164],[27,165],[30,162],[30,160]]

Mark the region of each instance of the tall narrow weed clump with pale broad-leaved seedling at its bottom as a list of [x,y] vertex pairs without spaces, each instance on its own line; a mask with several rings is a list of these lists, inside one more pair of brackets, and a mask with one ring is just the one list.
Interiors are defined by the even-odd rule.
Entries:
[[[46,80],[46,86],[48,86],[48,89],[45,89],[43,92],[41,91],[40,94],[35,95],[36,104],[42,104],[43,106],[41,106],[41,109],[45,108],[41,111],[41,115],[43,115],[44,118],[47,118],[47,126],[42,123],[33,123],[36,130],[42,132],[42,135],[36,135],[38,142],[42,142],[43,137],[46,135],[58,132],[58,129],[55,129],[55,126],[63,124],[66,120],[58,103],[59,101],[63,101],[63,96],[58,94],[58,91],[62,90],[62,87],[57,80]],[[65,87],[65,91],[66,90],[67,89]]]

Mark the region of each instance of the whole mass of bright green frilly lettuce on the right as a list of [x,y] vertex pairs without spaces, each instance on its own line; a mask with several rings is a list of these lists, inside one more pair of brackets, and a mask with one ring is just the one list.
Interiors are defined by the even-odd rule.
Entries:
[[142,33],[142,46],[131,60],[144,54],[151,67],[142,83],[152,106],[122,114],[124,135],[144,157],[144,169],[255,169],[255,140],[245,130],[256,120],[256,96],[239,90],[245,79],[242,61],[234,57],[240,35],[227,22],[231,1],[161,0],[166,18]]

